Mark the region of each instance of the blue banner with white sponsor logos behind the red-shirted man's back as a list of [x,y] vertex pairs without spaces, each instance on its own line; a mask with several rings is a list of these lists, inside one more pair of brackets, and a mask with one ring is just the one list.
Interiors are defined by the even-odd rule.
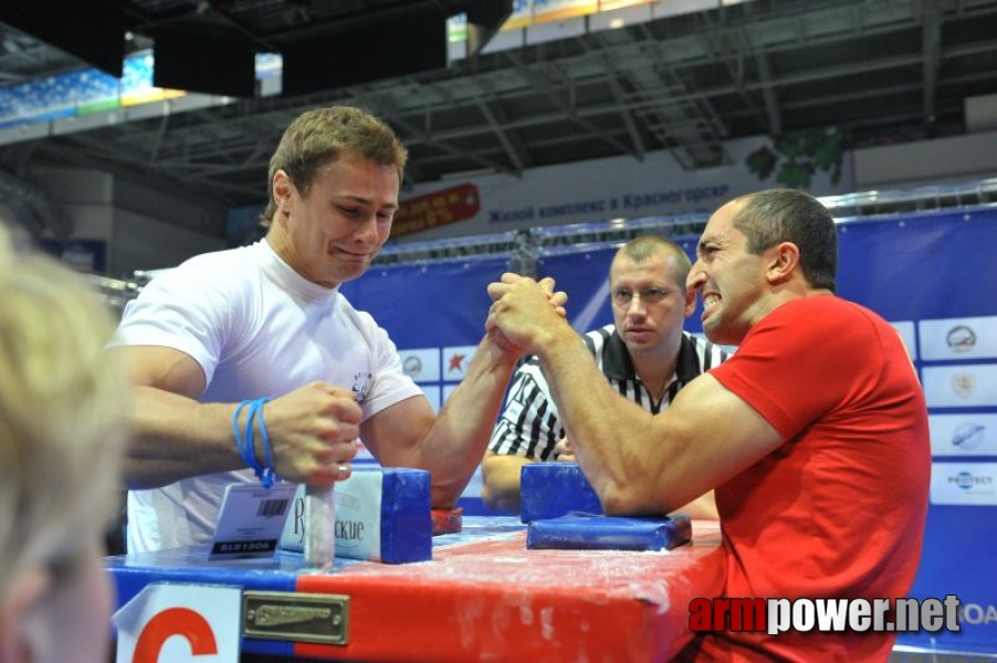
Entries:
[[[959,632],[907,633],[898,643],[997,652],[997,575],[991,572],[997,549],[997,402],[993,396],[974,398],[988,385],[993,394],[997,382],[997,210],[859,220],[841,224],[838,238],[841,296],[894,323],[928,398],[932,503],[911,596],[923,600],[955,594],[962,607]],[[959,329],[965,335],[957,334]],[[967,383],[973,378],[977,393],[933,398],[932,377],[940,370],[963,376]],[[978,445],[959,443],[959,435],[943,436],[946,427],[940,422],[949,420],[962,421],[953,432],[973,431]]]

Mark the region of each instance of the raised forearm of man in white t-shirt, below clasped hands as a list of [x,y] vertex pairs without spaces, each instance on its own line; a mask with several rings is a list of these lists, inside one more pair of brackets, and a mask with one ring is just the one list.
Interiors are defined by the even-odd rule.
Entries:
[[418,466],[432,473],[434,507],[452,506],[481,463],[515,360],[485,336],[466,376],[422,440]]

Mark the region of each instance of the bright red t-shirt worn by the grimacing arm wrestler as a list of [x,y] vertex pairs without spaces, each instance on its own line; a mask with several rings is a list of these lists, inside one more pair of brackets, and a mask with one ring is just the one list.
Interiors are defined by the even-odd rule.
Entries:
[[[716,488],[731,598],[905,597],[931,477],[927,409],[899,334],[836,296],[784,304],[711,375],[786,442]],[[720,633],[715,660],[869,661],[890,633]]]

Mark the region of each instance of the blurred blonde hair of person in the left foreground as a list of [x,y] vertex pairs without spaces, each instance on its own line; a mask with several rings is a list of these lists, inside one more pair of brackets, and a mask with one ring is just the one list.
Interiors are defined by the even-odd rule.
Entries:
[[80,277],[14,255],[0,228],[0,609],[27,571],[57,587],[109,523],[128,407],[113,328]]

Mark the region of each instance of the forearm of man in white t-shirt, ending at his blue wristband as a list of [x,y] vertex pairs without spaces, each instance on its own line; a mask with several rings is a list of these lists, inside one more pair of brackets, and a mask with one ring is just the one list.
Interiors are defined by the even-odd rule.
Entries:
[[136,387],[134,406],[124,463],[128,488],[245,467],[232,432],[234,404],[203,404],[154,387]]

